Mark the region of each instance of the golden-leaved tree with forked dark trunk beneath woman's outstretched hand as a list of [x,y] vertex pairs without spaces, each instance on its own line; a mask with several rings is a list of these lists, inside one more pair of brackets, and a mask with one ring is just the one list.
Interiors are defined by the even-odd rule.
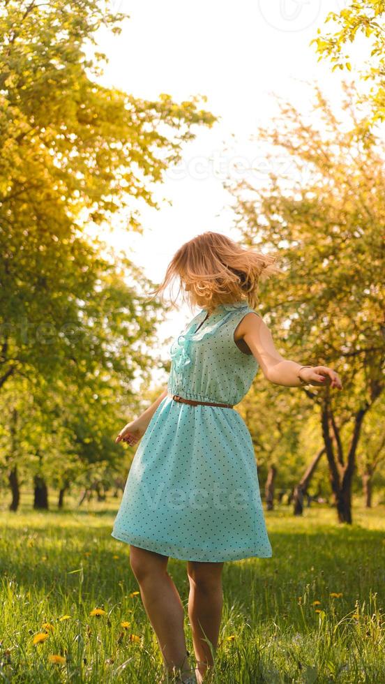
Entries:
[[[312,124],[282,104],[273,126],[259,131],[269,151],[266,186],[243,182],[232,191],[245,241],[280,251],[285,265],[283,278],[261,287],[261,313],[284,355],[342,376],[338,394],[297,391],[319,412],[338,519],[350,523],[363,419],[384,390],[385,202],[384,144],[349,132],[362,112],[352,89],[345,92],[343,123],[319,89]],[[282,150],[289,174],[276,171]]]

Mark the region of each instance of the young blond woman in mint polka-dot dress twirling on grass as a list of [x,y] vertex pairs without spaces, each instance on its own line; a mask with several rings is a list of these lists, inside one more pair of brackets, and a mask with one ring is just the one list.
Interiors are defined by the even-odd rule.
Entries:
[[[112,536],[130,544],[130,565],[166,676],[180,683],[202,682],[213,665],[223,563],[271,556],[252,440],[234,405],[259,366],[275,385],[342,389],[332,369],[283,359],[253,311],[259,279],[279,270],[274,262],[214,232],[181,246],[155,294],[177,278],[179,294],[187,292],[199,313],[170,348],[167,389],[116,438],[142,442]],[[195,670],[181,599],[167,574],[169,556],[188,561]]]

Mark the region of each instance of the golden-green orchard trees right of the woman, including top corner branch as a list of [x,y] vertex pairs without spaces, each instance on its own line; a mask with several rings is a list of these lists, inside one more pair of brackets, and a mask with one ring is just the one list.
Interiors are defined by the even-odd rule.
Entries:
[[[261,394],[255,387],[249,402],[258,412],[246,412],[257,456],[270,467],[270,485],[283,470],[295,512],[319,461],[326,461],[332,503],[347,523],[353,492],[362,492],[370,507],[376,480],[385,500],[384,15],[385,3],[377,0],[329,15],[333,29],[325,35],[319,29],[313,41],[319,58],[351,73],[348,46],[365,36],[366,87],[345,83],[338,111],[315,87],[307,119],[281,103],[278,119],[258,131],[269,160],[266,185],[229,183],[243,238],[274,248],[287,262],[285,277],[265,284],[260,297],[282,354],[333,366],[344,379],[344,392],[302,389],[293,392],[292,405],[286,390],[282,397],[280,388]],[[282,153],[287,174],[277,171]],[[278,406],[275,415],[271,406]],[[303,473],[299,452],[308,454]]]

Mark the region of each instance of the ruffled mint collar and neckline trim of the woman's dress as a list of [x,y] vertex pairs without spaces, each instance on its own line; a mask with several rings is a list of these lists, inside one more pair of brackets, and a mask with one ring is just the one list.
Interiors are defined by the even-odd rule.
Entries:
[[207,310],[202,308],[171,346],[170,355],[176,373],[180,373],[183,368],[191,363],[191,343],[200,342],[207,336],[213,335],[221,325],[227,322],[234,310],[247,309],[248,306],[248,302],[244,301],[234,302],[234,304],[220,304],[218,310],[211,313],[207,320],[205,320]]

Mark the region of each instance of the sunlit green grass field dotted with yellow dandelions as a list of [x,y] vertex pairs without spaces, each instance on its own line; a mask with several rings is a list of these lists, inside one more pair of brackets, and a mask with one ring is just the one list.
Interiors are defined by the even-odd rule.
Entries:
[[[63,513],[26,505],[0,514],[0,681],[155,684],[160,677],[129,547],[110,536],[116,505]],[[225,563],[210,681],[385,682],[384,512],[356,507],[351,527],[338,526],[326,508],[308,509],[303,519],[287,509],[266,514],[273,558]],[[170,559],[169,573],[186,605],[186,563]],[[96,608],[105,614],[90,615]],[[43,641],[33,644],[38,634]],[[186,637],[193,653],[187,614]]]

